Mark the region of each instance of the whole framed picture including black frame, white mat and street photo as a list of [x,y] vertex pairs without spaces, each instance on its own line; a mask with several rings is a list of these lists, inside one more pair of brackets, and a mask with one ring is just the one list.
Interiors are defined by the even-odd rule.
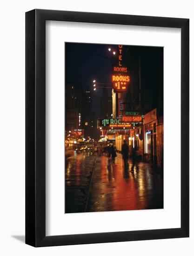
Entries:
[[189,236],[189,20],[26,13],[26,243]]

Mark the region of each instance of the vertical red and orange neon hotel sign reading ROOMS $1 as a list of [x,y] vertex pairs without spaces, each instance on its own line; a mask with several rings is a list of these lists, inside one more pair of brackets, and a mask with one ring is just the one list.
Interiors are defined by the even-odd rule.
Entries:
[[123,46],[118,46],[118,65],[113,67],[112,85],[115,93],[127,92],[130,76],[127,67],[123,67]]

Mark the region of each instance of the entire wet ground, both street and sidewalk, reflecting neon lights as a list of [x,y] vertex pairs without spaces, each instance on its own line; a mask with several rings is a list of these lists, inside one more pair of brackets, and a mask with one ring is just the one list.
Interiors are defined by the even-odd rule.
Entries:
[[131,160],[124,167],[105,155],[80,153],[66,161],[65,212],[96,212],[163,208],[161,171],[150,163]]

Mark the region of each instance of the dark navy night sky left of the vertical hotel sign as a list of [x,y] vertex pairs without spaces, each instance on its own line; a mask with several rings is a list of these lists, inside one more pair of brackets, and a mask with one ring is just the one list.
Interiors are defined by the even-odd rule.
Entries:
[[[80,83],[82,88],[93,88],[99,83],[111,83],[111,59],[116,58],[108,48],[116,46],[102,44],[66,43],[66,81]],[[103,87],[106,85],[100,85]],[[110,85],[107,85],[111,87]],[[111,96],[111,90],[108,89]],[[99,113],[102,88],[93,92],[93,110]]]

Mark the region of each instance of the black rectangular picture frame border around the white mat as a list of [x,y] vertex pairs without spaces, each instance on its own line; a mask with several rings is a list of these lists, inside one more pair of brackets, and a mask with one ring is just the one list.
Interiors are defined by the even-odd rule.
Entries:
[[[46,20],[181,28],[181,228],[46,236]],[[27,12],[26,243],[42,247],[188,236],[189,19],[39,9]]]

